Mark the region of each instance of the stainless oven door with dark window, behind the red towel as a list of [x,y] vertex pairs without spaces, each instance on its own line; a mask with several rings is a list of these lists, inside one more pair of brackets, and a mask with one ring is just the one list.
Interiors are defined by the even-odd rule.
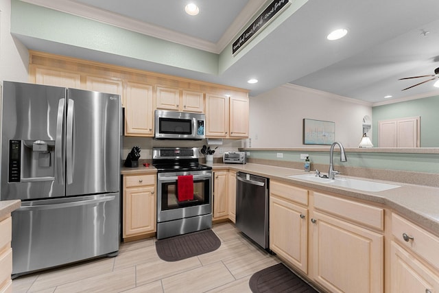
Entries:
[[[193,200],[178,200],[177,179],[193,176]],[[165,172],[157,176],[157,222],[212,213],[212,172]]]

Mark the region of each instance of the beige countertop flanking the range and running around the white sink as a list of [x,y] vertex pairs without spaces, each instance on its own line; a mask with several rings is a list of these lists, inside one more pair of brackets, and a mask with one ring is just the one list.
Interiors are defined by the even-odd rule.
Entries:
[[[439,188],[427,187],[423,185],[410,185],[403,183],[395,183],[389,181],[379,181],[364,179],[369,181],[391,183],[399,185],[400,187],[386,191],[370,192],[359,191],[356,189],[349,189],[347,187],[337,187],[325,185],[324,183],[314,183],[306,180],[299,180],[289,178],[288,175],[305,174],[301,169],[291,169],[285,167],[276,167],[270,165],[259,165],[247,163],[245,165],[239,164],[223,164],[213,163],[206,164],[213,167],[213,171],[218,169],[233,169],[240,172],[249,172],[254,175],[267,177],[274,180],[280,180],[285,183],[291,183],[305,188],[316,189],[320,191],[332,192],[342,196],[351,198],[358,198],[361,200],[368,200],[383,204],[389,209],[393,209],[399,214],[405,216],[420,226],[439,236]],[[155,174],[156,169],[150,167],[138,168],[122,168],[122,174]],[[348,176],[341,176],[348,177]],[[355,177],[353,177],[355,178]]]

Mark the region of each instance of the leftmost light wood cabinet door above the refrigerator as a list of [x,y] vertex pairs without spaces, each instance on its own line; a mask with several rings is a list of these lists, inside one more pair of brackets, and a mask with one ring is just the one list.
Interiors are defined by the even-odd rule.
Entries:
[[35,83],[47,86],[61,86],[81,89],[81,75],[78,72],[35,67]]

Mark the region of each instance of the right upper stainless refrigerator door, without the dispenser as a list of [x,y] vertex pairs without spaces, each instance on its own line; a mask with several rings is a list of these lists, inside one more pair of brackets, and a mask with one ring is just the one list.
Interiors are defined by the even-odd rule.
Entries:
[[119,191],[119,95],[68,89],[67,196]]

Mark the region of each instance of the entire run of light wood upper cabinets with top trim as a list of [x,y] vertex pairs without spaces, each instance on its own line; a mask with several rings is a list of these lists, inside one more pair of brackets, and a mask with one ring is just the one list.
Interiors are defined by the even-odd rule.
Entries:
[[154,110],[162,109],[205,113],[206,137],[248,137],[245,89],[36,51],[29,81],[121,95],[126,136],[153,137]]

